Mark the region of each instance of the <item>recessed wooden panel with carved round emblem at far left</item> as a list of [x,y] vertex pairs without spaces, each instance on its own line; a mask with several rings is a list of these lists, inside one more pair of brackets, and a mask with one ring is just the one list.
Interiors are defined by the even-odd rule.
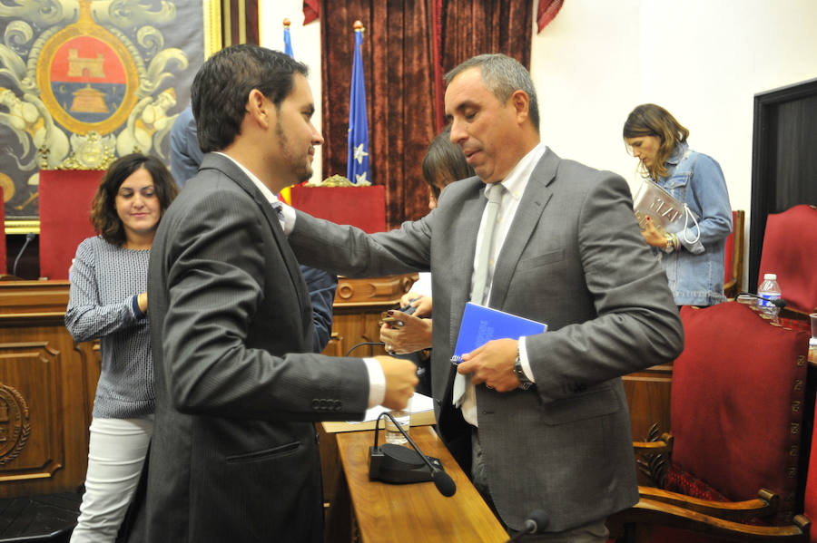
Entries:
[[0,344],[0,481],[50,478],[64,464],[59,354]]

